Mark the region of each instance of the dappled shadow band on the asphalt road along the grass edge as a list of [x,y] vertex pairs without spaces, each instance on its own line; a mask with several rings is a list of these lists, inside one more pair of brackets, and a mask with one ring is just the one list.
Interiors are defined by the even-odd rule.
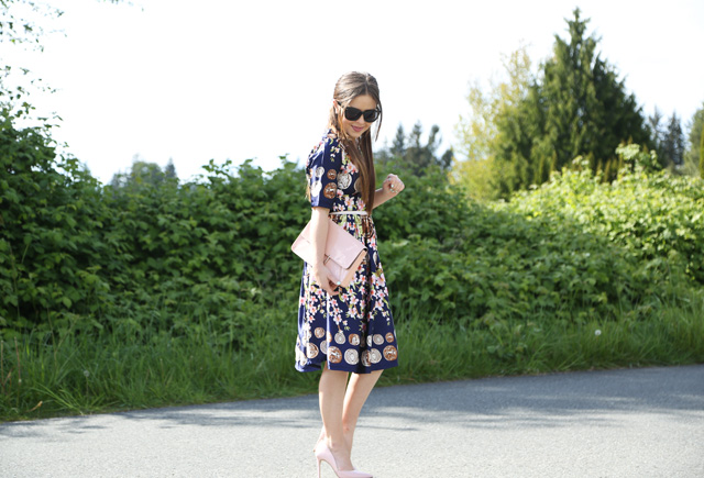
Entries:
[[[618,415],[666,414],[702,419],[704,365],[499,377],[377,388],[362,412],[363,426],[413,432],[433,423],[449,429],[618,426]],[[604,415],[614,415],[607,420]],[[391,426],[386,425],[391,419]],[[139,426],[308,429],[320,426],[315,394],[153,409],[94,416],[0,424],[0,441],[42,435],[110,433],[124,421]],[[416,425],[415,425],[416,424]]]

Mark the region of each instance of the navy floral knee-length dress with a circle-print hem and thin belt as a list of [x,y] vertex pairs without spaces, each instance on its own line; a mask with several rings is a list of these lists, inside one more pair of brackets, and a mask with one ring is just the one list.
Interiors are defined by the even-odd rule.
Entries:
[[[324,136],[306,164],[311,207],[332,212],[363,211],[358,168],[337,137]],[[396,331],[388,304],[388,289],[376,248],[372,218],[359,214],[330,216],[362,241],[367,255],[346,289],[328,294],[304,263],[298,307],[296,368],[369,374],[398,365]]]

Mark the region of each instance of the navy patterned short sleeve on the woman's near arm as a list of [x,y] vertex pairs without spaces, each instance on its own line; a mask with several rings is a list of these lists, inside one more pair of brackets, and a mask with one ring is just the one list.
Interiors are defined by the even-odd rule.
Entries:
[[310,205],[332,209],[338,197],[338,174],[342,147],[337,137],[326,137],[308,157],[306,175],[310,185]]

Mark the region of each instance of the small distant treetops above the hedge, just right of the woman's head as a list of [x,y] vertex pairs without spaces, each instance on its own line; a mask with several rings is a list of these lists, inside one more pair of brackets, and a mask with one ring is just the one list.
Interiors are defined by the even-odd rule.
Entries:
[[391,148],[385,147],[374,153],[375,162],[380,166],[394,165],[405,173],[415,176],[424,176],[428,168],[438,167],[448,170],[452,164],[452,148],[438,155],[441,144],[440,126],[433,124],[428,134],[428,142],[422,144],[422,125],[416,123],[408,135],[404,134],[404,127],[399,124],[396,137]]

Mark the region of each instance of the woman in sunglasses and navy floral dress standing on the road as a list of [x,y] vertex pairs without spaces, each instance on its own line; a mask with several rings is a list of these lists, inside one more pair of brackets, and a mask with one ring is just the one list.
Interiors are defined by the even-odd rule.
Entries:
[[[398,365],[372,211],[403,191],[404,184],[388,175],[382,188],[374,190],[371,127],[377,120],[378,137],[382,103],[376,79],[356,71],[343,75],[334,88],[328,132],[306,165],[317,259],[304,265],[296,368],[322,368],[322,431],[315,446],[318,476],[321,462],[327,462],[338,477],[371,477],[352,466],[354,429],[382,371]],[[367,256],[346,289],[332,284],[323,263],[328,218],[367,247]]]

